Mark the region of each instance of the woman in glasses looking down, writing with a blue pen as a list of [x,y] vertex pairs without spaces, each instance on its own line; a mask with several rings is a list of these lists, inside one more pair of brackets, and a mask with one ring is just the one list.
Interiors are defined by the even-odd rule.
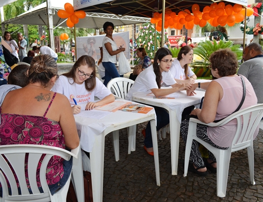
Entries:
[[[96,77],[95,60],[91,56],[81,56],[71,70],[62,74],[52,91],[66,95],[72,106],[73,114],[81,110],[79,104],[86,104],[85,110],[114,102],[111,91]],[[100,100],[94,102],[97,96]]]

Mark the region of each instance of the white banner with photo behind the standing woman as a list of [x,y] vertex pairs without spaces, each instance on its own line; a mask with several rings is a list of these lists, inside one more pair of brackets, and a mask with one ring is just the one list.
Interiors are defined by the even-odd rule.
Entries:
[[[96,36],[83,36],[76,37],[77,44],[77,56],[79,59],[80,56],[88,55],[93,57],[95,61],[98,61],[101,58],[100,48],[102,46],[103,38],[106,35],[96,35]],[[116,42],[117,47],[123,45],[125,48],[124,55],[129,60],[129,32],[121,32],[112,34],[113,40]],[[119,58],[119,54],[117,55]]]

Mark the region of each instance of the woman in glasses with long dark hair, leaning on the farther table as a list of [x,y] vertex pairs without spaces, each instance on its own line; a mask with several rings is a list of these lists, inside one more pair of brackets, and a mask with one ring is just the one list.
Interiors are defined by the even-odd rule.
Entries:
[[[131,100],[134,92],[151,91],[156,97],[165,96],[173,92],[190,89],[191,84],[178,84],[172,77],[169,69],[172,63],[172,56],[169,49],[161,47],[156,52],[153,64],[142,71],[136,78],[133,86],[129,89],[126,99]],[[172,88],[161,88],[161,84],[172,86]],[[154,106],[153,106],[154,107]],[[169,114],[165,109],[154,107],[157,116],[156,130],[161,129],[169,123]],[[191,111],[190,111],[191,112]],[[189,112],[189,113],[190,113]],[[150,122],[145,130],[144,149],[153,156],[153,144]]]

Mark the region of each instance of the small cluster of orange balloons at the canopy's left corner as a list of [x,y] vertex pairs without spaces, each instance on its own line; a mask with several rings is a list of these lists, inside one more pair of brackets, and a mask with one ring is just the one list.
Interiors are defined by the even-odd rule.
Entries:
[[70,3],[66,3],[64,5],[65,10],[59,10],[58,11],[58,16],[60,18],[68,18],[67,19],[67,26],[68,27],[73,27],[74,24],[77,24],[79,21],[79,18],[85,18],[86,13],[84,11],[75,11],[74,8]]

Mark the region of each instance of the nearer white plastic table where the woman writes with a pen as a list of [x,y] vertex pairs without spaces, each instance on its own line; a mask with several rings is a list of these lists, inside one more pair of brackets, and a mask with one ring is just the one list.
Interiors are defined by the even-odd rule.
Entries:
[[[159,157],[158,145],[156,135],[156,115],[154,109],[147,114],[139,114],[132,112],[117,111],[103,117],[102,119],[92,119],[74,116],[78,134],[80,135],[80,145],[85,151],[90,152],[91,158],[91,174],[92,174],[92,189],[93,200],[103,201],[103,169],[104,169],[104,146],[105,136],[112,131],[115,159],[119,158],[119,142],[118,130],[129,127],[128,138],[135,136],[134,125],[150,121],[152,128],[153,150],[154,150],[154,164],[156,174],[156,184],[160,186],[160,172],[159,172]],[[133,137],[135,138],[135,137]],[[94,140],[94,141],[93,141]],[[88,142],[88,141],[93,141]],[[130,150],[130,148],[129,148]]]

